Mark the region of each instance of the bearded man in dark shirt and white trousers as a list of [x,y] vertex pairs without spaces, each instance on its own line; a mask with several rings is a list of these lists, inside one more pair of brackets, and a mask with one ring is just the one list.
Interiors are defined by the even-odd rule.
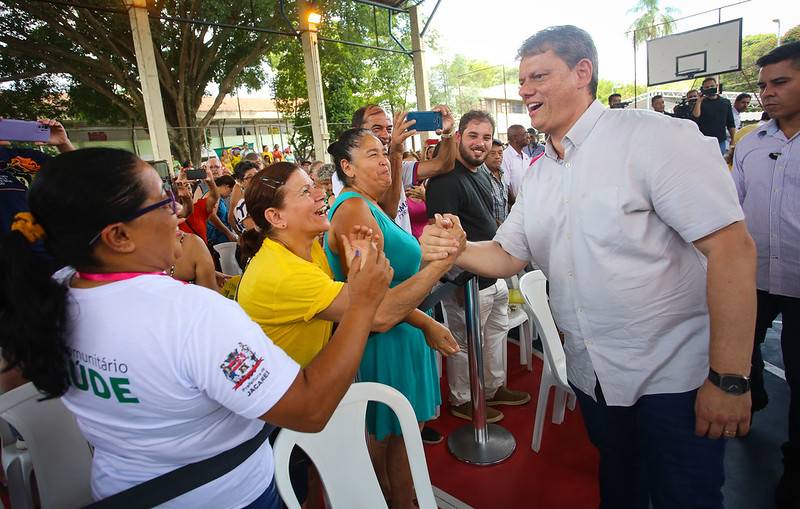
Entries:
[[[492,148],[494,120],[483,111],[470,111],[461,117],[456,133],[455,169],[428,182],[426,205],[428,217],[451,213],[471,241],[491,240],[497,230],[494,199],[489,174],[480,170]],[[478,279],[480,320],[483,331],[483,372],[486,388],[486,420],[497,422],[502,412],[492,405],[523,405],[530,401],[525,392],[505,387],[504,350],[508,334],[508,287],[502,279]],[[447,381],[450,385],[450,412],[456,417],[472,419],[467,361],[466,327],[463,294],[442,300],[447,324],[461,351],[447,358]]]

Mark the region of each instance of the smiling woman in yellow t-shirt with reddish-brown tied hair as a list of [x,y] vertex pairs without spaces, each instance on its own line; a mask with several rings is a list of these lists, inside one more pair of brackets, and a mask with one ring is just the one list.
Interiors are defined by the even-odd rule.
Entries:
[[[253,177],[245,204],[263,241],[242,275],[237,301],[276,345],[306,366],[328,342],[333,322],[350,303],[348,283],[333,280],[317,240],[330,228],[325,193],[299,166],[280,162]],[[366,228],[351,235],[356,247],[370,237]],[[452,261],[429,263],[390,289],[378,307],[373,330],[387,331],[406,321],[423,331],[431,348],[445,356],[457,351],[450,331],[416,309]]]

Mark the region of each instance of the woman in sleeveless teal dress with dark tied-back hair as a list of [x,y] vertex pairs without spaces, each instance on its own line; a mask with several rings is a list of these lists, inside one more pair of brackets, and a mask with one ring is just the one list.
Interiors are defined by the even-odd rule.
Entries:
[[[345,188],[329,212],[331,228],[324,241],[334,278],[343,281],[347,274],[339,256],[342,248],[337,239],[356,224],[380,231],[377,242],[394,269],[390,287],[414,284],[409,278],[420,270],[444,275],[453,260],[431,262],[420,268],[421,251],[417,240],[397,226],[377,204],[377,197],[382,196],[392,182],[389,160],[381,141],[367,129],[349,129],[328,152],[333,156],[339,178],[345,182]],[[386,332],[373,333],[359,368],[360,381],[379,382],[403,393],[411,402],[420,425],[434,417],[436,406],[441,403],[436,356],[420,330],[429,320],[432,318],[424,313],[414,313]],[[392,508],[414,507],[413,482],[394,412],[385,405],[370,404],[367,428],[378,441],[385,441]]]

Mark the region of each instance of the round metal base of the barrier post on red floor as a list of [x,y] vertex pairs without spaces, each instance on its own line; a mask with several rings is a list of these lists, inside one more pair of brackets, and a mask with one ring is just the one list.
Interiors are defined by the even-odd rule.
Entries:
[[473,465],[494,465],[507,459],[517,446],[511,432],[497,424],[488,424],[487,440],[475,439],[475,427],[467,424],[447,438],[447,447],[453,456]]

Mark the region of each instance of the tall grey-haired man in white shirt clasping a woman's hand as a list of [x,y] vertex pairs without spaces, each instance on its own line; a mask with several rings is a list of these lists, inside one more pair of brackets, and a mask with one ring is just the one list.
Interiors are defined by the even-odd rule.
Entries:
[[[749,429],[755,249],[717,143],[691,122],[605,109],[581,29],[543,30],[519,56],[545,155],[494,240],[457,263],[508,277],[533,262],[548,277],[601,507],[721,508],[715,439]],[[428,259],[457,244],[448,219],[423,234]]]

